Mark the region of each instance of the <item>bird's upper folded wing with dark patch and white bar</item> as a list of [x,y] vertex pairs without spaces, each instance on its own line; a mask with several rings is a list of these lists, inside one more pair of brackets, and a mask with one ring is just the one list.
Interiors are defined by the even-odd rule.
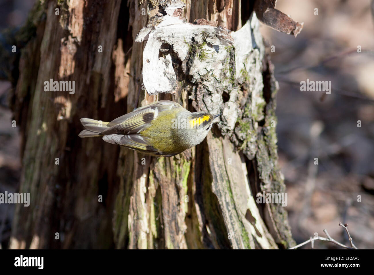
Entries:
[[184,109],[178,103],[169,100],[160,100],[156,103],[140,107],[131,113],[124,114],[109,122],[107,125],[109,128],[102,131],[101,134],[137,134],[142,129],[149,126],[150,122],[155,119],[160,112],[173,108]]

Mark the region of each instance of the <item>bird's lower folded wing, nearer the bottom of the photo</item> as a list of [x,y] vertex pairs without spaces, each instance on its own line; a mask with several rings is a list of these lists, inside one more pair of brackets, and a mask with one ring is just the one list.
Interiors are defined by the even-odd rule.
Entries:
[[149,146],[147,141],[139,134],[134,135],[104,135],[102,137],[108,143],[125,146],[129,149],[137,150],[148,154],[156,154],[158,151],[154,147]]

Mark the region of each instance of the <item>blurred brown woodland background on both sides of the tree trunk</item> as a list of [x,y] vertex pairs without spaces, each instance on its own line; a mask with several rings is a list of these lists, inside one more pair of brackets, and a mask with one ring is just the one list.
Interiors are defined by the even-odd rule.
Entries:
[[[21,26],[33,3],[0,0],[0,32]],[[358,248],[373,249],[374,5],[370,0],[278,0],[276,7],[304,22],[297,38],[261,26],[279,82],[278,153],[293,237],[299,244],[315,233],[325,236],[327,229],[348,245],[338,226],[342,222]],[[300,81],[306,79],[331,81],[331,94],[301,92]],[[10,83],[0,82],[0,193],[17,192],[21,170],[9,89]],[[0,207],[2,248],[7,248],[13,212],[13,204]],[[316,241],[315,248],[340,247]]]

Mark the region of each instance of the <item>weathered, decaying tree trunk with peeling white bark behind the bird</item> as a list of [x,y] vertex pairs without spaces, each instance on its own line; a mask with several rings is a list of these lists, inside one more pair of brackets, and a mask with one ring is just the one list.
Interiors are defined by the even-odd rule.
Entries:
[[[37,3],[12,74],[19,192],[31,202],[16,206],[10,248],[294,245],[284,208],[256,203],[285,186],[278,84],[252,9],[240,0]],[[75,81],[74,94],[45,91],[50,79]],[[223,112],[222,121],[171,158],[78,137],[81,117],[111,121],[162,99]]]

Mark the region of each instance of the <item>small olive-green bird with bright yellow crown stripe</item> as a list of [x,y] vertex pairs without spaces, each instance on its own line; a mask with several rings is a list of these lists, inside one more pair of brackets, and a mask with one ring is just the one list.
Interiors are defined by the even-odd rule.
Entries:
[[82,118],[86,130],[79,137],[102,137],[148,155],[170,157],[201,143],[220,115],[191,113],[178,103],[160,100],[111,122]]

